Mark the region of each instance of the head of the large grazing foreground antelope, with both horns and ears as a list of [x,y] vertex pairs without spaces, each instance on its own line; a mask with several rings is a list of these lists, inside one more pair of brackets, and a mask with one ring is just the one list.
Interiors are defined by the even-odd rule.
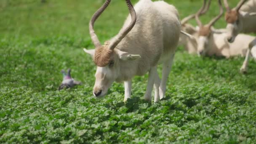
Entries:
[[104,96],[107,93],[108,88],[119,75],[119,62],[121,60],[131,61],[140,57],[139,55],[132,55],[115,48],[117,44],[120,43],[120,41],[125,37],[125,35],[131,31],[136,23],[136,12],[130,0],[126,0],[126,4],[131,14],[131,23],[125,29],[120,30],[120,32],[110,41],[106,41],[104,45],[101,45],[97,35],[94,32],[93,26],[96,19],[107,8],[110,2],[111,0],[106,0],[101,8],[99,8],[98,11],[93,14],[89,23],[91,39],[96,48],[93,50],[87,50],[84,48],[85,53],[90,54],[93,57],[94,63],[97,65],[93,95],[98,98]]

